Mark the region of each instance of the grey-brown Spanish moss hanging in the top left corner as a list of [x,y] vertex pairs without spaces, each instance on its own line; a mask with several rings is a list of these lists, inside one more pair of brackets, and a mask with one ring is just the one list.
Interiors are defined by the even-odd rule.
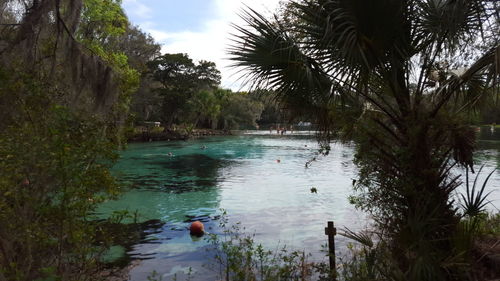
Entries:
[[57,81],[63,105],[105,114],[118,82],[109,63],[76,38],[82,8],[82,0],[2,1],[0,67]]

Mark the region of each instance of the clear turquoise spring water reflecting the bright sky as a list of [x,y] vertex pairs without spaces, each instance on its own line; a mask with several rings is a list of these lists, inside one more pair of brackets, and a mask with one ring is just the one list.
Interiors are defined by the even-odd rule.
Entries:
[[[478,162],[490,171],[500,161],[500,132],[481,132]],[[268,132],[211,137],[187,142],[151,142],[129,145],[114,167],[118,177],[131,186],[118,201],[101,207],[101,214],[128,209],[139,213],[144,237],[116,252],[141,260],[132,269],[132,280],[145,280],[153,271],[170,280],[188,267],[194,280],[212,280],[207,242],[193,239],[189,223],[201,220],[205,228],[219,233],[220,209],[231,223],[241,222],[255,240],[275,249],[287,245],[322,260],[328,220],[337,227],[358,230],[369,218],[349,203],[356,167],[352,144],[333,144],[328,156],[317,155],[312,135],[270,135]],[[171,153],[171,155],[169,155]],[[309,168],[305,163],[316,157]],[[277,161],[279,160],[279,162]],[[500,173],[490,180],[500,187]],[[311,193],[316,187],[318,192]],[[493,193],[494,210],[499,194]],[[337,251],[347,241],[337,236]]]

